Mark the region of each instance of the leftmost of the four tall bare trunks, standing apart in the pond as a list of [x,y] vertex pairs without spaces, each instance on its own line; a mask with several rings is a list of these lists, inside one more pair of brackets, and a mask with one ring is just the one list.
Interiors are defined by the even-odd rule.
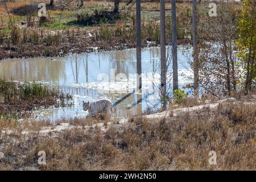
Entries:
[[137,23],[137,89],[142,88],[141,78],[141,0],[136,1],[136,23]]

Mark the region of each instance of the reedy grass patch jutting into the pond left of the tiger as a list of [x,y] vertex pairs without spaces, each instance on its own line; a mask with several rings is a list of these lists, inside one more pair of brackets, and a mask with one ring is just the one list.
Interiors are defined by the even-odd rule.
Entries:
[[43,84],[18,83],[0,79],[0,118],[29,117],[32,110],[65,106],[72,97]]

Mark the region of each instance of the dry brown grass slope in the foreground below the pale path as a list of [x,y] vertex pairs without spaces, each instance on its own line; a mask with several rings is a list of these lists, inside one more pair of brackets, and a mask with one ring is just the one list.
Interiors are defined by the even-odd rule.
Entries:
[[[106,132],[98,126],[57,135],[15,130],[0,138],[0,169],[255,170],[255,122],[255,105],[225,104],[178,117],[134,117],[109,124]],[[42,150],[47,164],[40,166]],[[217,165],[210,166],[212,150]]]

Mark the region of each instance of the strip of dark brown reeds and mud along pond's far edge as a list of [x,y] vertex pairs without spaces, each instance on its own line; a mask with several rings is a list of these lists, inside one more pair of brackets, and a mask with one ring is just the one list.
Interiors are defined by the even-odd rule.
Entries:
[[[121,38],[113,38],[113,40],[96,40],[96,38],[87,38],[85,35],[76,36],[75,40],[69,42],[67,37],[61,36],[59,46],[34,45],[24,43],[19,45],[2,44],[0,45],[0,60],[13,58],[32,58],[32,57],[56,57],[65,56],[69,53],[84,53],[96,51],[118,51],[123,49],[135,48],[136,42],[126,40],[123,43]],[[65,40],[67,39],[67,40]],[[190,39],[177,40],[179,45],[190,44]],[[142,48],[159,46],[155,42],[148,40],[142,41]]]

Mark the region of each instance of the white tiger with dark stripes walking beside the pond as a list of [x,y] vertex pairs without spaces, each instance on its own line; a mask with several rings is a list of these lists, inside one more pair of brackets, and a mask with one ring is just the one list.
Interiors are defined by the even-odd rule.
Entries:
[[89,115],[110,114],[110,111],[114,113],[114,111],[112,110],[112,103],[108,99],[102,99],[93,102],[82,101],[82,108],[85,111],[88,110]]

